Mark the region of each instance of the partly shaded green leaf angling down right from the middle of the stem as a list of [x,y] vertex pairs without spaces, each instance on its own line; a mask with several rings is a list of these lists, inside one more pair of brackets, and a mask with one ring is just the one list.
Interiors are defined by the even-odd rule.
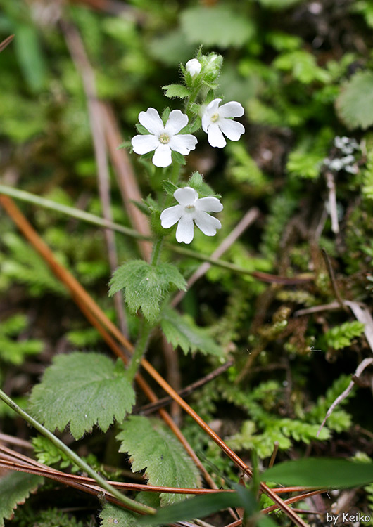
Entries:
[[207,330],[198,327],[188,315],[179,315],[173,309],[166,309],[160,325],[167,341],[175,348],[180,346],[185,354],[198,350],[205,355],[224,355],[222,348],[213,341]]

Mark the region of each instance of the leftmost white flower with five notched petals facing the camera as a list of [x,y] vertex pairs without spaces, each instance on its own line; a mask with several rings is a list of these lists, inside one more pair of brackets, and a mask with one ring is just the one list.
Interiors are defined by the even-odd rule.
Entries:
[[165,126],[163,126],[163,121],[154,108],[140,112],[139,122],[145,126],[150,134],[134,136],[131,141],[132,147],[137,154],[147,154],[156,150],[152,160],[156,167],[168,167],[171,164],[171,150],[187,155],[190,150],[196,148],[197,140],[194,136],[179,134],[179,131],[188,124],[188,116],[180,110],[170,112],[170,117],[168,117]]

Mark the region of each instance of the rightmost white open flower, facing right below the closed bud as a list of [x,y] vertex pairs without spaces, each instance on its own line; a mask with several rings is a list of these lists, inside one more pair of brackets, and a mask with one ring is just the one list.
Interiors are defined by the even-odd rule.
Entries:
[[233,121],[229,117],[241,117],[244,115],[244,108],[240,103],[232,101],[220,106],[222,99],[214,99],[205,108],[202,115],[202,128],[208,134],[208,142],[211,146],[223,148],[227,141],[225,136],[231,141],[239,141],[244,134],[244,126],[240,122]]

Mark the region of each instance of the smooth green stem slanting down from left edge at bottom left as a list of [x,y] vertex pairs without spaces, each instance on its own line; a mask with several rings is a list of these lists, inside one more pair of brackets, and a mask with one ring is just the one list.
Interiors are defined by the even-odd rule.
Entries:
[[43,436],[48,438],[49,441],[51,441],[51,443],[53,443],[53,445],[58,448],[58,450],[61,450],[61,452],[68,456],[72,463],[77,464],[78,467],[87,472],[87,474],[91,476],[94,481],[99,483],[99,486],[101,486],[108,493],[118,498],[118,500],[120,500],[123,505],[126,505],[127,508],[135,512],[139,512],[140,514],[155,514],[156,509],[153,509],[153,507],[148,507],[147,505],[142,505],[139,502],[135,502],[134,500],[131,500],[129,497],[126,497],[125,495],[120,493],[116,488],[112,487],[110,483],[106,481],[106,479],[97,474],[94,469],[91,469],[91,467],[89,467],[89,464],[83,461],[77,454],[75,454],[75,452],[70,450],[70,448],[68,448],[68,446],[66,446],[62,441],[60,441],[60,439],[53,435],[51,431],[47,430],[45,427],[43,427],[42,424],[40,424],[33,417],[31,417],[31,415],[27,414],[25,410],[22,410],[22,408],[16,405],[15,402],[12,401],[12,399],[8,397],[6,393],[4,393],[4,391],[2,390],[0,390],[0,399],[4,401],[4,403],[6,403],[8,406],[10,406],[15,412],[17,412],[18,415],[23,417],[25,421],[30,423],[32,427],[37,429],[40,434],[43,434]]

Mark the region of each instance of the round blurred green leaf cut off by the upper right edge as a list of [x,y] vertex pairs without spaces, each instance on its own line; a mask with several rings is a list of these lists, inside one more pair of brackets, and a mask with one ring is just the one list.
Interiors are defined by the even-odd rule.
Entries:
[[356,73],[341,86],[336,110],[349,129],[367,129],[373,124],[373,72]]

